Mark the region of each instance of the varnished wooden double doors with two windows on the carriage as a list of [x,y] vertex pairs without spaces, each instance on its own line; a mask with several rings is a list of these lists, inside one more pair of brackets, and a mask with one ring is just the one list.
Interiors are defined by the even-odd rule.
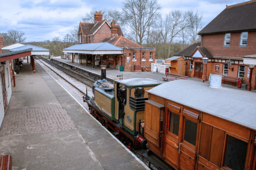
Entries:
[[195,170],[199,114],[169,102],[167,107],[165,159],[179,170]]

